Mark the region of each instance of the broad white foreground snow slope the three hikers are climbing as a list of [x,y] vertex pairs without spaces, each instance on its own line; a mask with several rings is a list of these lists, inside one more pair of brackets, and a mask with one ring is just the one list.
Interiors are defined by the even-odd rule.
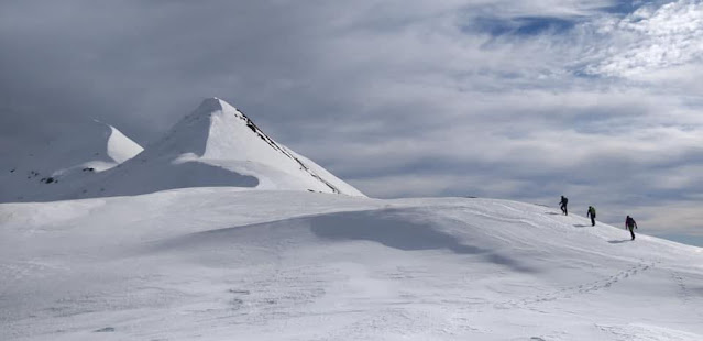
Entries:
[[0,340],[703,340],[702,249],[557,211],[223,187],[4,204]]

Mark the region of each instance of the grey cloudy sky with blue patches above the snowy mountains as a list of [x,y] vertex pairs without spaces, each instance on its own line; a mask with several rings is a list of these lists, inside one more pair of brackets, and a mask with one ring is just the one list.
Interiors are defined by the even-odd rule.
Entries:
[[3,0],[0,46],[3,153],[217,96],[370,196],[703,234],[703,0]]

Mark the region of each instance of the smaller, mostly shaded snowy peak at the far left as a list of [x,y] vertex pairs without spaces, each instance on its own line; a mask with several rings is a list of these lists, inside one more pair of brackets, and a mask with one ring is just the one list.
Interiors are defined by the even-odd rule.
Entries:
[[75,124],[24,151],[2,151],[0,202],[51,200],[142,152],[114,127]]

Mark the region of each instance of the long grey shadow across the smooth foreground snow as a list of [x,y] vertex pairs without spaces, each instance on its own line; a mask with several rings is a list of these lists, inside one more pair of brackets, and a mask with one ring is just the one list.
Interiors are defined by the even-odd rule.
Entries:
[[[476,255],[514,271],[535,272],[496,250],[468,244],[465,239],[460,240],[458,235],[442,231],[437,222],[427,221],[422,217],[419,212],[388,209],[337,212],[196,232],[157,242],[156,245],[151,246],[156,246],[156,250],[161,251],[185,248],[204,249],[204,252],[207,252],[207,250],[221,248],[240,248],[242,244],[250,243],[252,245],[262,245],[262,242],[276,244],[274,241],[278,238],[281,240],[305,238],[304,230],[309,230],[318,239],[331,242],[371,241],[403,251],[449,250],[455,254]],[[470,226],[462,226],[455,231],[470,232]]]

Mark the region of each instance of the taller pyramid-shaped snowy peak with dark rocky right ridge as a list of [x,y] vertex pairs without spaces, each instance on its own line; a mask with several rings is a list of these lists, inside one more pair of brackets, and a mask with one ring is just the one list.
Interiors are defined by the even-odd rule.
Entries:
[[363,196],[276,143],[229,103],[209,98],[136,157],[66,198],[209,186]]

